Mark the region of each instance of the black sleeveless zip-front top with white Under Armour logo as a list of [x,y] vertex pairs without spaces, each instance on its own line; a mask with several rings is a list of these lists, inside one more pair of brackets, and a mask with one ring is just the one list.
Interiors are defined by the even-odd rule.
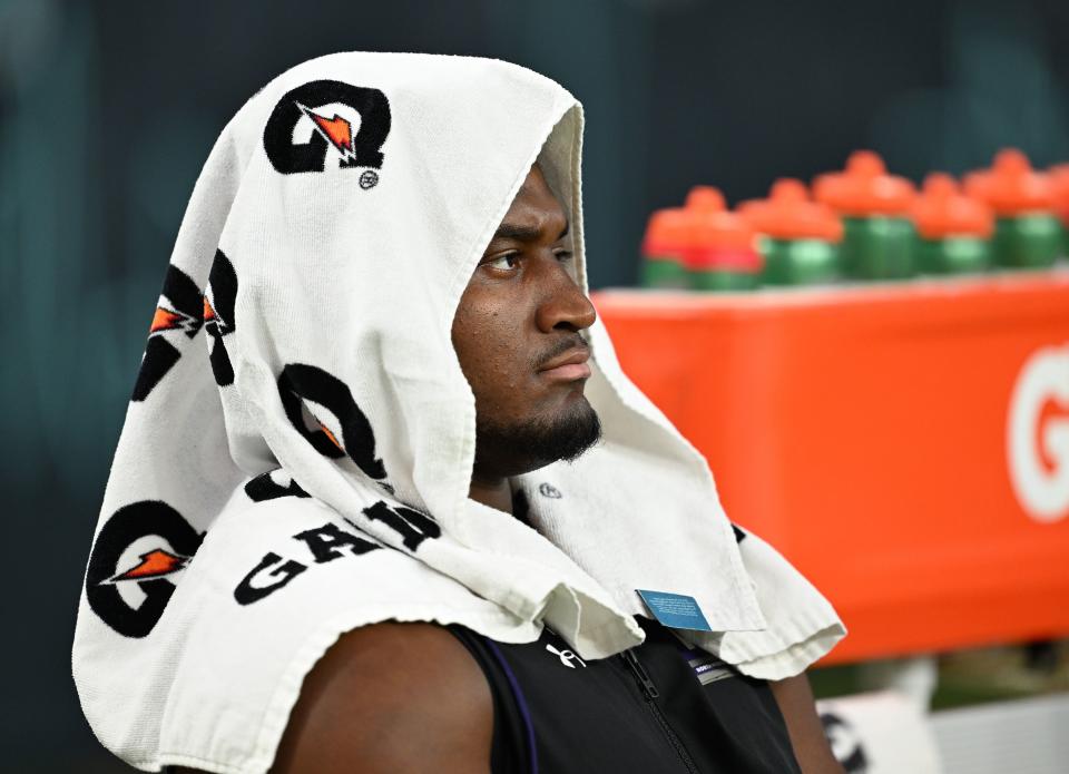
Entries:
[[492,774],[801,774],[764,680],[636,620],[646,641],[598,660],[549,627],[521,645],[449,627],[493,696]]

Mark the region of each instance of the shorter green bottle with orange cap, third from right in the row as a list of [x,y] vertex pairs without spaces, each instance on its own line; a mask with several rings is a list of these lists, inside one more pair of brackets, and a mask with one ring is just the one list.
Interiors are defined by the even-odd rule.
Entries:
[[913,205],[918,264],[923,274],[967,274],[991,266],[994,214],[962,195],[954,178],[932,173]]

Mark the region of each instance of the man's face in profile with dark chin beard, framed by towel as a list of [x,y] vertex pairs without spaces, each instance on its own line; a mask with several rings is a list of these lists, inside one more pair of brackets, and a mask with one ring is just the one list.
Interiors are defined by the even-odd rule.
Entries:
[[570,273],[568,218],[531,167],[453,319],[453,347],[475,395],[475,470],[518,476],[575,459],[600,437],[583,396],[594,306]]

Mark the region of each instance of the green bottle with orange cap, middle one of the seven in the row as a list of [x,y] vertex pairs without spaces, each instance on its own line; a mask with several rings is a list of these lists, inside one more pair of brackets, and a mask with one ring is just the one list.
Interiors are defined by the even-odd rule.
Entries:
[[913,276],[916,232],[909,214],[916,189],[905,178],[889,175],[880,156],[854,151],[843,172],[814,180],[813,195],[843,218],[842,266],[847,277]]

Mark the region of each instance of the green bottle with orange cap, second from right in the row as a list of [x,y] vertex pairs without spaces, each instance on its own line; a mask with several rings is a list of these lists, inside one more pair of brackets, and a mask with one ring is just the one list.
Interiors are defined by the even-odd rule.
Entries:
[[1014,148],[1000,150],[990,169],[965,176],[965,193],[994,210],[994,263],[1007,268],[1045,268],[1062,247],[1050,178],[1032,169]]

